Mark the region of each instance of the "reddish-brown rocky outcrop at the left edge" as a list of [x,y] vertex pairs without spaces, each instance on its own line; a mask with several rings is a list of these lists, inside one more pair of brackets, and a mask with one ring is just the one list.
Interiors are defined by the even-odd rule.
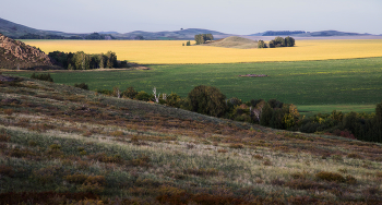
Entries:
[[0,69],[31,69],[52,65],[43,51],[0,34]]

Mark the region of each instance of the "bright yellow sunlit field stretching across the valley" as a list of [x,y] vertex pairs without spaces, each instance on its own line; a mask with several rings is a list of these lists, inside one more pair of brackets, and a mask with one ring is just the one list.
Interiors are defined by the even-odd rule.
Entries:
[[23,40],[46,53],[111,50],[119,60],[143,64],[236,63],[382,57],[382,39],[296,40],[295,47],[235,49],[182,46],[186,40]]

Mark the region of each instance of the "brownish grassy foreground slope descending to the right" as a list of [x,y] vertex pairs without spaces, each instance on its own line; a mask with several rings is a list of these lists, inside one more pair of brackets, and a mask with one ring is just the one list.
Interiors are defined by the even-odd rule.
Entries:
[[382,203],[380,144],[0,80],[0,204]]

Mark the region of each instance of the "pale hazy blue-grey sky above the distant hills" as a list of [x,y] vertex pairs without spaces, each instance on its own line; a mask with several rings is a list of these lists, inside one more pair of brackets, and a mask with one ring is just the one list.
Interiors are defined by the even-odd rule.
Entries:
[[382,34],[382,0],[5,0],[0,17],[67,33],[205,28]]

